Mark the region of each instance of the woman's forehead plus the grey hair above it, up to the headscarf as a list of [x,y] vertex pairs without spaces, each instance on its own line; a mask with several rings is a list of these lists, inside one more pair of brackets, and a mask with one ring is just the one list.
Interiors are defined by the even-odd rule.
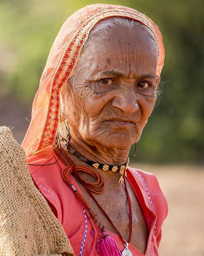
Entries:
[[147,26],[127,17],[108,17],[99,20],[91,28],[69,78],[72,80],[76,73],[77,76],[83,73],[79,72],[81,68],[94,74],[102,66],[104,70],[127,69],[124,70],[127,73],[130,69],[138,73],[140,69],[140,72],[151,70],[154,74],[157,60],[157,40]]

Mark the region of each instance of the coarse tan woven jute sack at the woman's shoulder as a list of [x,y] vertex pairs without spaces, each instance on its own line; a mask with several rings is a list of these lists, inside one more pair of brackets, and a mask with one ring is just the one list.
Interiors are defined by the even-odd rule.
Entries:
[[35,187],[24,150],[0,127],[0,256],[74,256],[69,240]]

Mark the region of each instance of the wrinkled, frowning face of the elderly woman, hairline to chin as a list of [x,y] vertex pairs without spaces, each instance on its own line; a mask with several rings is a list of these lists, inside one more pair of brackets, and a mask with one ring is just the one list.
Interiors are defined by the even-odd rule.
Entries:
[[120,27],[89,46],[68,84],[70,133],[91,146],[130,147],[157,97],[156,42],[142,28]]

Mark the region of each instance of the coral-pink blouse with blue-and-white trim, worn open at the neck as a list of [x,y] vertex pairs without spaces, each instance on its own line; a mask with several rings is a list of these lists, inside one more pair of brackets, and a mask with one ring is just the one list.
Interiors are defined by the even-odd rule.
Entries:
[[[32,164],[50,164],[54,163],[57,157],[51,146],[48,146],[37,154],[28,157],[27,160],[28,163]],[[29,165],[29,170],[36,186],[47,199],[55,216],[62,223],[75,255],[98,256],[97,241],[101,238],[101,232],[85,213],[72,189],[62,180],[61,170],[64,167],[62,161],[59,160],[57,163],[47,166]],[[145,216],[149,232],[145,256],[158,256],[157,248],[161,240],[161,226],[168,212],[166,200],[153,174],[133,168],[128,168],[127,174],[128,181]],[[72,181],[73,185],[80,191],[73,177]],[[122,251],[124,246],[120,238],[113,233],[110,234]],[[128,248],[133,256],[143,255],[131,244]]]

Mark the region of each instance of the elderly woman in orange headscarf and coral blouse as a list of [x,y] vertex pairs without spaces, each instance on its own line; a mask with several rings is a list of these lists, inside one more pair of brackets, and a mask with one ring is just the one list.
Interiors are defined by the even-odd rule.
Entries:
[[75,255],[158,255],[166,200],[128,154],[163,63],[158,27],[123,6],[87,6],[55,39],[22,146]]

